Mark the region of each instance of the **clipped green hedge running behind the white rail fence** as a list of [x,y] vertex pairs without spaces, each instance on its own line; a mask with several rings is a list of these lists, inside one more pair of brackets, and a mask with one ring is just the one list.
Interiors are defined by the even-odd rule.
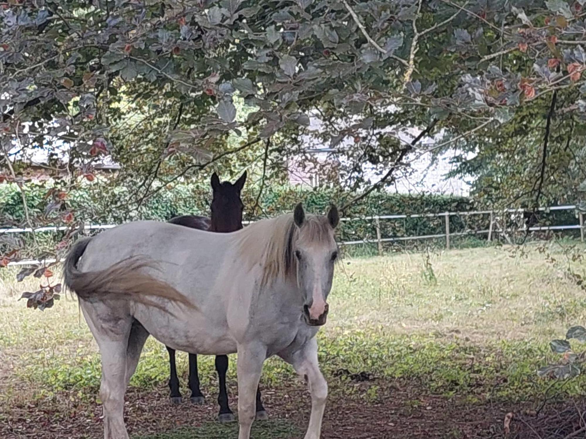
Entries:
[[[260,197],[259,204],[262,215],[253,217],[253,211],[257,188],[247,187],[243,193],[243,201],[246,205],[246,219],[257,219],[267,215],[269,217],[291,212],[295,204],[302,201],[308,212],[321,213],[328,210],[329,204],[334,202],[343,205],[351,200],[356,194],[340,193],[332,189],[312,190],[302,187],[281,187],[265,188]],[[47,200],[44,200],[47,191],[46,187],[30,186],[26,188],[26,198],[31,217],[42,216]],[[92,224],[119,224],[134,219],[157,219],[166,221],[176,215],[197,214],[207,215],[211,194],[210,189],[202,184],[179,184],[173,188],[162,188],[154,196],[148,198],[138,209],[128,210],[125,206],[132,205],[125,203],[132,190],[125,188],[112,188],[96,184],[87,185],[83,188],[72,190],[68,193],[66,208],[76,211],[77,219],[83,219],[86,223]],[[113,207],[114,206],[114,207]],[[390,193],[373,193],[369,197],[360,200],[349,210],[343,212],[345,217],[363,218],[373,215],[413,215],[435,212],[466,212],[482,210],[473,200],[466,197],[425,195],[413,196]],[[260,213],[260,211],[259,211]],[[21,194],[15,185],[0,186],[0,223],[22,224],[24,211],[22,207]],[[450,217],[450,232],[454,234],[452,242],[455,245],[462,242],[457,234],[472,231],[484,230],[489,227],[489,215],[453,215]],[[540,224],[576,224],[574,212],[555,211],[543,212],[539,218]],[[59,212],[52,212],[41,225],[60,225]],[[381,219],[381,236],[391,238],[397,236],[421,236],[438,235],[445,233],[445,218],[424,217],[424,218],[401,218]],[[30,236],[23,236],[29,241]],[[467,245],[479,245],[486,241],[486,235],[475,235],[470,241],[466,238]],[[47,232],[40,234],[38,241],[42,242],[47,249],[54,246],[54,243],[62,239],[62,234]],[[359,241],[362,239],[376,239],[376,227],[373,220],[343,221],[340,227],[340,240]],[[443,245],[444,239],[437,239],[437,243]],[[387,243],[386,248],[393,246],[417,247],[425,246],[432,241],[398,241]],[[26,248],[26,242],[24,247]],[[359,247],[356,247],[359,248]],[[367,246],[372,252],[373,246]],[[376,246],[374,246],[376,249]],[[31,255],[32,256],[32,255]]]

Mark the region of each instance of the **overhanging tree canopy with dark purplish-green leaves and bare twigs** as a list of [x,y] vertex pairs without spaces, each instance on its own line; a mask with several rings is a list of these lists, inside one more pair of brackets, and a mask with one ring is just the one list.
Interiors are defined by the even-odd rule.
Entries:
[[111,155],[130,206],[210,164],[277,178],[313,139],[352,189],[455,148],[490,200],[570,200],[586,178],[585,2],[514,3],[1,2],[0,180],[22,181],[34,150],[54,168],[66,150],[63,184]]

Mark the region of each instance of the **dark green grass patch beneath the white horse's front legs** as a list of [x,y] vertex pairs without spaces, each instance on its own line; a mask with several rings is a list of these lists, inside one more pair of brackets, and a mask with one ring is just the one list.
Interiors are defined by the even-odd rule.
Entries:
[[[182,427],[166,433],[132,436],[132,439],[226,439],[238,436],[238,423],[218,424],[208,422],[200,427]],[[301,431],[289,421],[272,420],[255,422],[251,439],[293,439],[301,437]]]

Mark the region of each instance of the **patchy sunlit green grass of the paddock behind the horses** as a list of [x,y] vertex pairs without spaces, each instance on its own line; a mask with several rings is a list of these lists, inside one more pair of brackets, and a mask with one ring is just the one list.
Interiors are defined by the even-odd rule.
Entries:
[[[548,341],[563,337],[570,325],[586,324],[584,291],[560,260],[547,262],[531,248],[523,258],[503,248],[478,248],[343,260],[329,299],[329,321],[319,334],[332,393],[356,392],[376,401],[386,391],[346,386],[340,369],[471,402],[489,396],[523,400],[543,392],[548,382],[534,372],[550,359]],[[571,267],[586,274],[580,261]],[[50,310],[28,310],[16,299],[38,280],[17,284],[14,275],[0,272],[0,404],[22,404],[62,390],[95,399],[98,349],[77,302],[63,297]],[[186,362],[187,355],[179,354],[183,386]],[[213,358],[201,356],[199,366],[202,386],[215,393]],[[231,385],[235,366],[231,361]],[[288,365],[270,359],[263,383],[278,387],[293,375]],[[153,388],[167,380],[166,349],[151,338],[131,385]],[[578,379],[565,390],[578,394],[581,387],[584,380]],[[216,437],[211,434],[200,433]]]

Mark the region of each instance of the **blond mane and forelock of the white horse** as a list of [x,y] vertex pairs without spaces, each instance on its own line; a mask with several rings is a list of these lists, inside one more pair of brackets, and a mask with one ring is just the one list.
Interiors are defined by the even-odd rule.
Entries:
[[325,243],[332,239],[328,219],[318,215],[306,215],[301,229],[295,225],[293,214],[285,214],[261,219],[237,233],[237,252],[241,260],[248,269],[262,267],[261,287],[296,275],[295,242]]

